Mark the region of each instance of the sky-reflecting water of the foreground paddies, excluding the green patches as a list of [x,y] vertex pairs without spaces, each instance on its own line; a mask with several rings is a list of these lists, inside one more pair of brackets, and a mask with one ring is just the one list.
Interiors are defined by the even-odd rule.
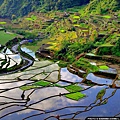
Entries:
[[[34,56],[33,52],[23,49]],[[77,83],[83,87],[82,93],[86,97],[78,101],[68,99],[64,96],[68,91],[55,86],[26,91],[20,89],[22,85],[31,85],[41,79],[61,86]],[[109,87],[113,80],[92,73],[87,79],[99,85],[83,84],[81,83],[83,78],[70,73],[67,68],[60,68],[57,63],[48,60],[36,59],[25,71],[0,76],[0,118],[1,120],[57,120],[57,118],[80,120],[89,116],[120,116],[120,89]],[[99,99],[97,96],[103,89],[105,94]]]

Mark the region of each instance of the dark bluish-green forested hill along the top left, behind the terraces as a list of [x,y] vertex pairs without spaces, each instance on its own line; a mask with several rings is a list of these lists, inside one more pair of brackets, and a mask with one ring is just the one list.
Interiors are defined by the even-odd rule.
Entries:
[[31,11],[63,10],[90,0],[0,0],[0,17],[24,16]]

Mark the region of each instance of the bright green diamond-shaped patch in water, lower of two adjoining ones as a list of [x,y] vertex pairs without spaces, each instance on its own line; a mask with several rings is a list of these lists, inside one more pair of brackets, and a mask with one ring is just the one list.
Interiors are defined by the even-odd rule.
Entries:
[[72,99],[72,100],[78,101],[78,100],[86,97],[86,95],[85,95],[85,94],[82,94],[82,93],[80,93],[80,92],[76,92],[76,93],[67,94],[67,95],[65,95],[65,97],[67,97],[67,98],[69,98],[69,99]]

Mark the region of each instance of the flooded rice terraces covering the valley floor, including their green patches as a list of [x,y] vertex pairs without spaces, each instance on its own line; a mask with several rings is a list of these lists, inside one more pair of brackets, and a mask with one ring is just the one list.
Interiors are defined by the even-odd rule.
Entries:
[[[24,40],[20,43],[22,45]],[[120,115],[120,80],[116,77],[120,69],[118,65],[112,67],[110,62],[88,57],[91,65],[100,66],[100,72],[82,77],[86,73],[82,69],[61,68],[58,62],[38,60],[31,51],[26,51],[35,59],[34,64],[24,71],[19,69],[12,73],[13,70],[3,75],[5,68],[15,67],[22,60],[25,62],[21,52],[11,50],[2,47],[0,54],[0,119],[79,120],[88,116]],[[109,67],[106,66],[108,64]],[[113,111],[113,108],[117,109]]]

